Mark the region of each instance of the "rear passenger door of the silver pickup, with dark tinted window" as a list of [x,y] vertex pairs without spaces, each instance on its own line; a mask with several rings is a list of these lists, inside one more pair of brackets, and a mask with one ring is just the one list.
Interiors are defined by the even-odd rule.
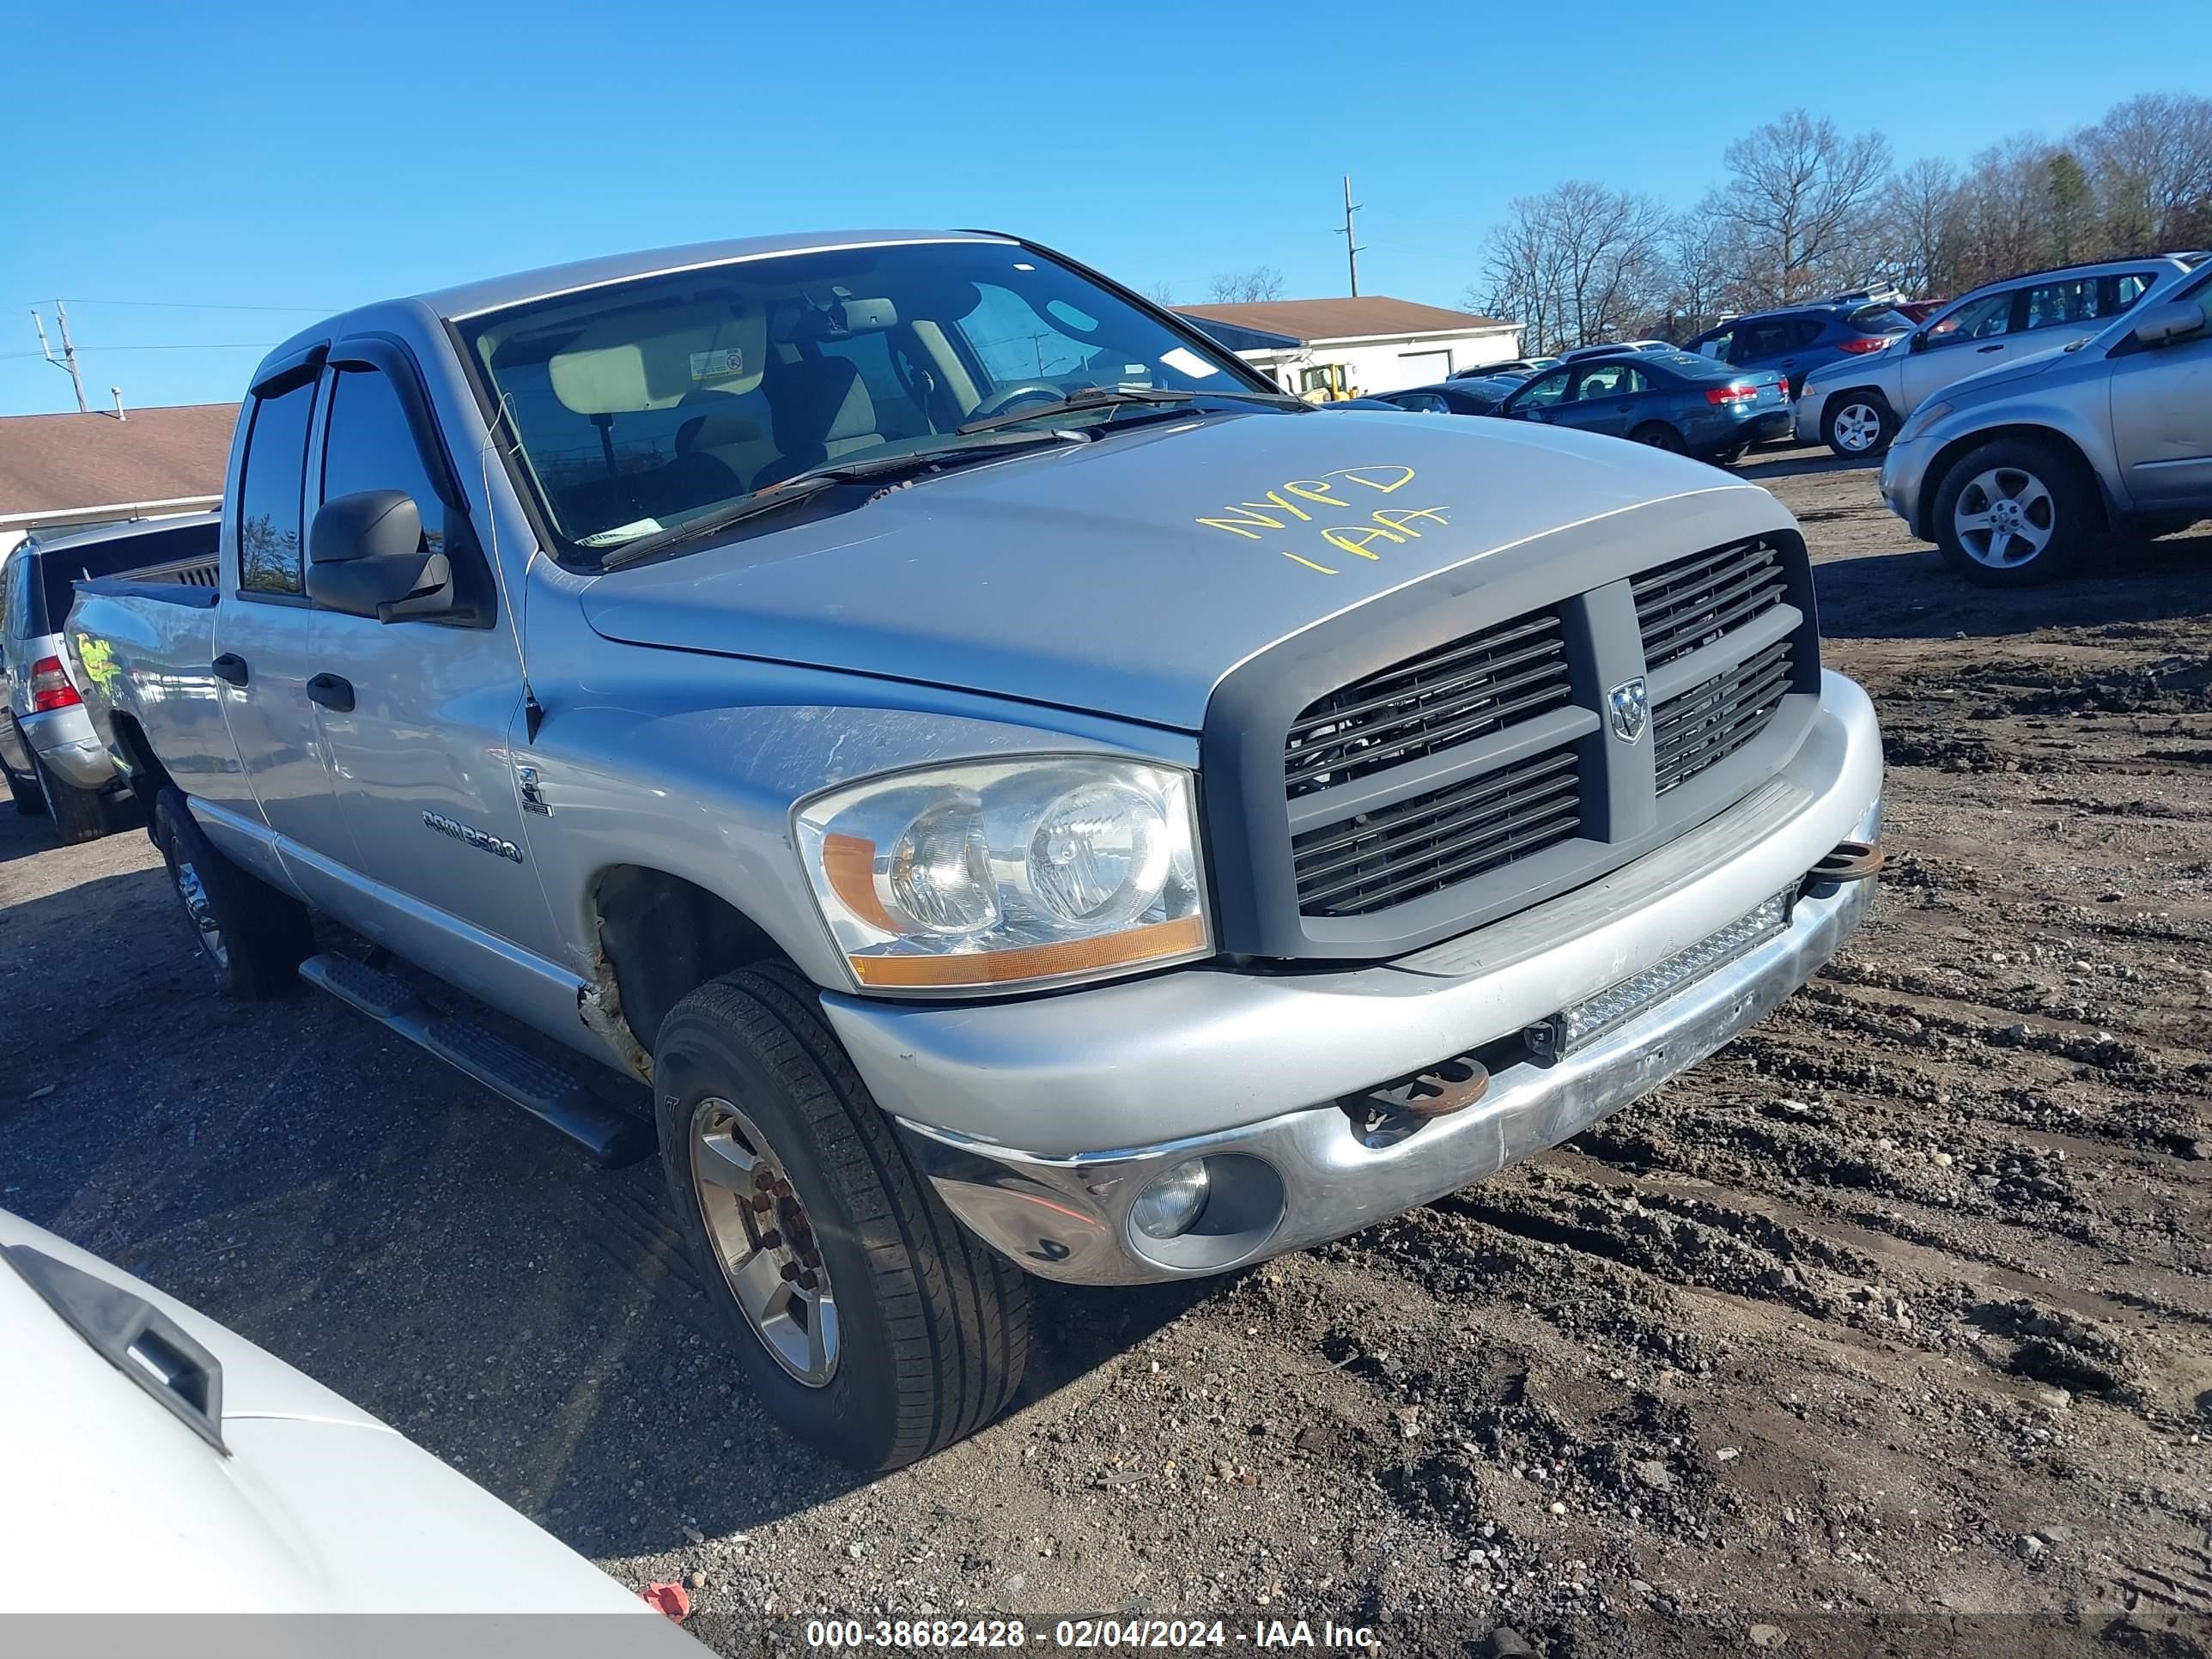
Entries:
[[[259,816],[276,836],[327,852],[345,845],[307,701],[305,502],[312,363],[261,383],[241,411],[246,458],[226,504],[215,606],[215,697],[243,772],[179,776],[190,794]],[[206,672],[210,664],[192,664]],[[234,849],[234,847],[232,847]],[[283,847],[279,845],[279,852]]]

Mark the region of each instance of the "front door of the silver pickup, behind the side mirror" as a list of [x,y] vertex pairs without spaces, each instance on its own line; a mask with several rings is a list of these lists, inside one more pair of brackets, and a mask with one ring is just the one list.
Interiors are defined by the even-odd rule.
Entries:
[[[407,900],[429,905],[531,951],[557,951],[551,911],[529,865],[515,757],[522,670],[504,606],[489,604],[467,498],[438,438],[420,372],[389,341],[347,341],[330,358],[323,445],[310,500],[400,489],[422,535],[487,593],[480,626],[376,622],[316,611],[310,675],[327,677],[314,706],[349,841],[332,856]],[[336,681],[336,684],[332,684]],[[367,907],[374,929],[389,894],[336,896]]]

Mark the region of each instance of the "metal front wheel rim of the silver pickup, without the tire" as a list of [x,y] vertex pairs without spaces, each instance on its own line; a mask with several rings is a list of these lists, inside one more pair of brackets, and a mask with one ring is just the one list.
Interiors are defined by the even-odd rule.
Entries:
[[770,1358],[810,1389],[836,1376],[830,1267],[783,1161],[745,1113],[710,1097],[692,1110],[692,1192],[714,1261]]

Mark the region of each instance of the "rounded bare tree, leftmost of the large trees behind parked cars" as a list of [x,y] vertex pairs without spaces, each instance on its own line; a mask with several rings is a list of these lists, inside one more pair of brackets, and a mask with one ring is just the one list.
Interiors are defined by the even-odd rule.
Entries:
[[1515,197],[1484,257],[1486,305],[1522,325],[1524,352],[1630,332],[1666,285],[1666,223],[1650,197],[1588,179]]

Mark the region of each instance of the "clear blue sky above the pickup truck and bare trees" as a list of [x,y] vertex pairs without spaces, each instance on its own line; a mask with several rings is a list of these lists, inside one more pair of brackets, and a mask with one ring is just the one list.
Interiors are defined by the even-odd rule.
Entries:
[[[1020,230],[1197,303],[1276,265],[1455,305],[1515,195],[1688,206],[1803,104],[1900,159],[2212,91],[2203,0],[1834,4],[113,4],[9,27],[0,414],[228,400],[316,314],[622,248]],[[2024,40],[2039,40],[2028,49]],[[2194,42],[2174,51],[2174,42]],[[1659,88],[1644,95],[1644,86]],[[139,301],[119,305],[115,301]],[[146,301],[164,301],[153,305]],[[299,310],[192,310],[299,307]],[[49,312],[51,330],[51,312]],[[177,347],[192,349],[117,349]]]

